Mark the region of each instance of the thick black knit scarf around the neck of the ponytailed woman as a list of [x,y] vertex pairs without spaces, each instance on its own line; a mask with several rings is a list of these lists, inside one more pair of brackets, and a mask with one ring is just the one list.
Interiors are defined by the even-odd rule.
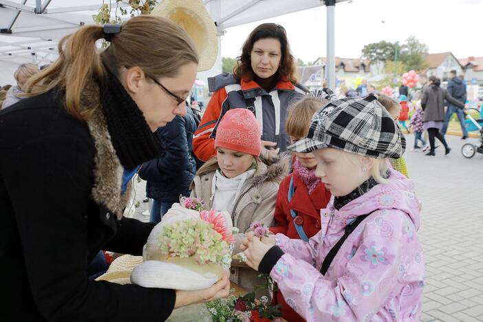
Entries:
[[164,144],[149,129],[136,102],[109,70],[100,85],[100,104],[112,145],[123,167],[133,169],[164,153]]

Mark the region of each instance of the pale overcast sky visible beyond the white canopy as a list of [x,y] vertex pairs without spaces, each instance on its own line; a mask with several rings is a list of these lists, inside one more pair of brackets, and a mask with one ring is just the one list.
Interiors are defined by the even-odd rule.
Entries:
[[[325,6],[321,6],[228,28],[222,56],[238,56],[257,25],[273,22],[286,28],[296,58],[305,63],[314,61],[326,56],[325,14]],[[483,0],[354,0],[336,5],[336,56],[358,58],[368,43],[404,42],[410,35],[426,43],[430,53],[453,52],[457,58],[483,56]]]

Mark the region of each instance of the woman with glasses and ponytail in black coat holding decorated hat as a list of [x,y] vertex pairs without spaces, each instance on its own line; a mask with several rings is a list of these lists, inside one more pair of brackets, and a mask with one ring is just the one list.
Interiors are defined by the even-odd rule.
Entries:
[[[106,39],[102,53],[96,41]],[[228,295],[87,278],[100,249],[141,255],[154,224],[122,217],[131,178],[164,152],[153,134],[186,114],[198,56],[159,17],[88,25],[0,111],[0,261],[10,321],[164,321],[173,308]],[[5,320],[5,319],[3,319]]]

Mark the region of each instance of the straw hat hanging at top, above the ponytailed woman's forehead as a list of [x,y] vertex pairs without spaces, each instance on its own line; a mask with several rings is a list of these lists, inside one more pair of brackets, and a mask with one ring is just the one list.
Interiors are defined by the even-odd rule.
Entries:
[[200,55],[198,71],[213,67],[218,54],[217,30],[202,0],[164,0],[151,14],[173,21],[191,36]]

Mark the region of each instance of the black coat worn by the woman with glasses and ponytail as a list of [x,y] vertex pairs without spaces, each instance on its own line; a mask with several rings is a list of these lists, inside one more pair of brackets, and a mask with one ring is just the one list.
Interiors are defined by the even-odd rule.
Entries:
[[0,321],[163,321],[173,290],[87,279],[100,249],[141,255],[153,224],[94,202],[97,175],[115,175],[96,172],[90,128],[60,106],[47,93],[0,111]]

